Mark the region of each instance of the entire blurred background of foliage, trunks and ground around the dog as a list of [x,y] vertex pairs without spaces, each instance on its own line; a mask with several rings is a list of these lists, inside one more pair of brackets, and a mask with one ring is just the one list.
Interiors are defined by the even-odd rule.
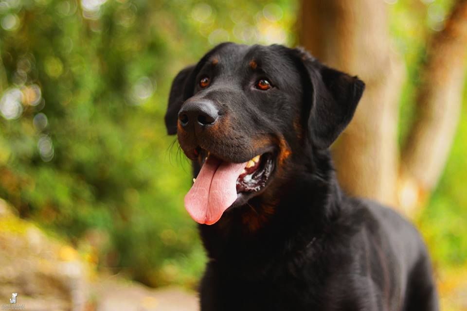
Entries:
[[366,82],[333,146],[342,187],[411,218],[442,310],[467,310],[466,0],[0,0],[0,304],[196,310],[206,259],[163,115],[223,41],[302,45]]

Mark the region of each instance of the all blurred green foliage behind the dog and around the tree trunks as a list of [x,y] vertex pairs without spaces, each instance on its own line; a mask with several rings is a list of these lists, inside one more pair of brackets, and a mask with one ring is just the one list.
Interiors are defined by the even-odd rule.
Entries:
[[[408,71],[401,141],[426,38],[450,5],[413,2],[390,5]],[[205,259],[182,205],[190,167],[163,125],[172,78],[221,41],[293,45],[298,5],[1,0],[0,197],[76,245],[93,245],[101,267],[153,286],[195,284]],[[466,121],[464,111],[447,170],[418,219],[447,265],[467,260]]]

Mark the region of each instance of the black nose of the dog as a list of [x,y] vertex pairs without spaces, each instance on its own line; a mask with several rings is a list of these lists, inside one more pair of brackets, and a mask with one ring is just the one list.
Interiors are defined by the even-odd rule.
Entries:
[[180,109],[179,120],[183,127],[192,123],[195,127],[204,127],[216,122],[219,116],[211,101],[186,102]]

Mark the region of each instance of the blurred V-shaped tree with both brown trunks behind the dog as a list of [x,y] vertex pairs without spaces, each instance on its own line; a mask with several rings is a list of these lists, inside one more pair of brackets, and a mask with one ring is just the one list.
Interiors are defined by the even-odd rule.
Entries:
[[446,164],[459,121],[467,58],[467,0],[457,0],[435,33],[421,70],[417,114],[397,155],[398,99],[404,67],[391,49],[386,4],[303,0],[300,41],[324,63],[358,74],[367,88],[354,120],[333,146],[338,178],[352,195],[412,214]]

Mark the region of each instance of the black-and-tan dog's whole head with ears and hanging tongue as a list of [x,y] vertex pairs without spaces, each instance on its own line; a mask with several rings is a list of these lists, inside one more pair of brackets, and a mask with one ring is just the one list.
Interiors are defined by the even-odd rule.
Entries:
[[229,207],[273,197],[305,150],[339,136],[363,89],[357,77],[280,45],[223,43],[181,70],[165,123],[195,164],[185,197],[192,218],[210,225]]

